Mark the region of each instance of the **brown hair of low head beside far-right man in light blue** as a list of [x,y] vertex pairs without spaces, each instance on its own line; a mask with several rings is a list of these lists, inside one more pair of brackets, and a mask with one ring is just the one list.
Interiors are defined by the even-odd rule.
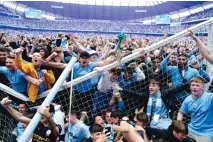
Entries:
[[183,121],[176,121],[176,120],[173,120],[172,121],[172,128],[175,132],[177,133],[182,133],[182,134],[185,134],[185,135],[188,135],[188,128],[187,126],[184,124]]

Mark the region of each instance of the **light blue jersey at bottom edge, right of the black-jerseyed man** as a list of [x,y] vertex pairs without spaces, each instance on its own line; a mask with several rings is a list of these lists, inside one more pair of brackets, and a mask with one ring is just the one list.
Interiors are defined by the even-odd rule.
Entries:
[[70,125],[65,135],[65,142],[81,142],[84,138],[89,138],[89,127],[79,121],[75,125]]

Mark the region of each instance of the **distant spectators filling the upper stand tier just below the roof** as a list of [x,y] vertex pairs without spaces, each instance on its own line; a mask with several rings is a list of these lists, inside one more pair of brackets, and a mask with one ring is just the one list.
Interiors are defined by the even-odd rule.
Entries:
[[[184,24],[181,26],[170,27],[169,25],[143,25],[141,23],[126,22],[100,22],[100,21],[81,21],[81,20],[36,20],[36,19],[15,19],[1,17],[0,24],[44,29],[62,29],[62,30],[92,30],[92,31],[123,31],[123,32],[142,32],[142,33],[177,33],[193,26],[193,24]],[[200,32],[204,32],[201,29]]]

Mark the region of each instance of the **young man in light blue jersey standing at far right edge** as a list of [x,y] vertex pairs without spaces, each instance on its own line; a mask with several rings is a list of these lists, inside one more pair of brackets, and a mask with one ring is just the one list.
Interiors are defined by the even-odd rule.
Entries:
[[189,136],[197,142],[213,141],[213,95],[204,91],[204,79],[194,77],[190,81],[191,95],[182,103],[177,120],[190,114]]

